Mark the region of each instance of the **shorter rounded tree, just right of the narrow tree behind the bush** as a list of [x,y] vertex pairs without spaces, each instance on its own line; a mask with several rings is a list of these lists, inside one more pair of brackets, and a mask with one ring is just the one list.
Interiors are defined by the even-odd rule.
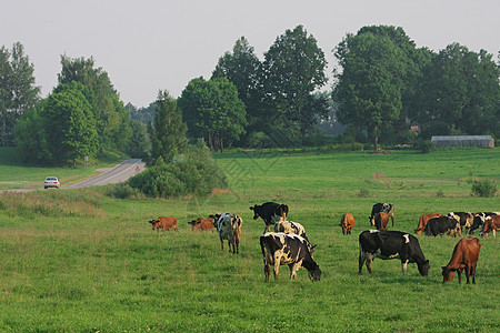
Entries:
[[212,150],[223,152],[224,142],[230,144],[246,132],[244,104],[226,78],[191,80],[178,102],[189,135],[206,139]]

